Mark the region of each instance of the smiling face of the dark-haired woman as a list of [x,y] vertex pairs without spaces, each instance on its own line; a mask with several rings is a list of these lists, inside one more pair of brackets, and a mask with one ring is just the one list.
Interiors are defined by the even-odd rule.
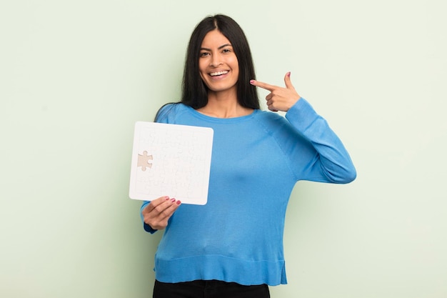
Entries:
[[201,44],[200,76],[210,91],[236,91],[239,64],[233,46],[219,30],[209,31]]

